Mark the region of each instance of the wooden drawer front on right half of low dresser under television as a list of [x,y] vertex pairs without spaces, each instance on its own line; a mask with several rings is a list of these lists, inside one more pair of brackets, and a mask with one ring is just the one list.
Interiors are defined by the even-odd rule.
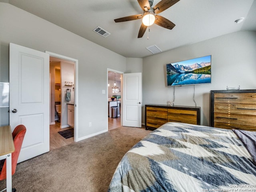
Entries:
[[193,110],[168,109],[168,122],[197,124],[197,112]]

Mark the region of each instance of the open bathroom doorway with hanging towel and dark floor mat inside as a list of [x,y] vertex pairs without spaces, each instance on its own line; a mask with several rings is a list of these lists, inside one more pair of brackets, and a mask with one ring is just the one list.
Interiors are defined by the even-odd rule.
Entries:
[[[50,150],[76,141],[77,60],[50,54]],[[76,88],[75,88],[76,87]]]

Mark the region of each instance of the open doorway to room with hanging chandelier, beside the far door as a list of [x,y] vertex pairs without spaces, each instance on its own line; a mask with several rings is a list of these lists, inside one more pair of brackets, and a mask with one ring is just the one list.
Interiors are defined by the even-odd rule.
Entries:
[[122,72],[108,70],[108,130],[122,125]]

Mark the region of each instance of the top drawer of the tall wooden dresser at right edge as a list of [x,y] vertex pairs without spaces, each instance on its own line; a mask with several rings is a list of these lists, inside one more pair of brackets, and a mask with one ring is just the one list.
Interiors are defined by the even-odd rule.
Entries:
[[215,93],[215,103],[256,103],[256,93]]

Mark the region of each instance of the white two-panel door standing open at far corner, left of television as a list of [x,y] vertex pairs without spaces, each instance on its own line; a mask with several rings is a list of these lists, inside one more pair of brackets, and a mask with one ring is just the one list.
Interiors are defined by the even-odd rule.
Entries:
[[141,127],[142,74],[123,74],[123,126]]

